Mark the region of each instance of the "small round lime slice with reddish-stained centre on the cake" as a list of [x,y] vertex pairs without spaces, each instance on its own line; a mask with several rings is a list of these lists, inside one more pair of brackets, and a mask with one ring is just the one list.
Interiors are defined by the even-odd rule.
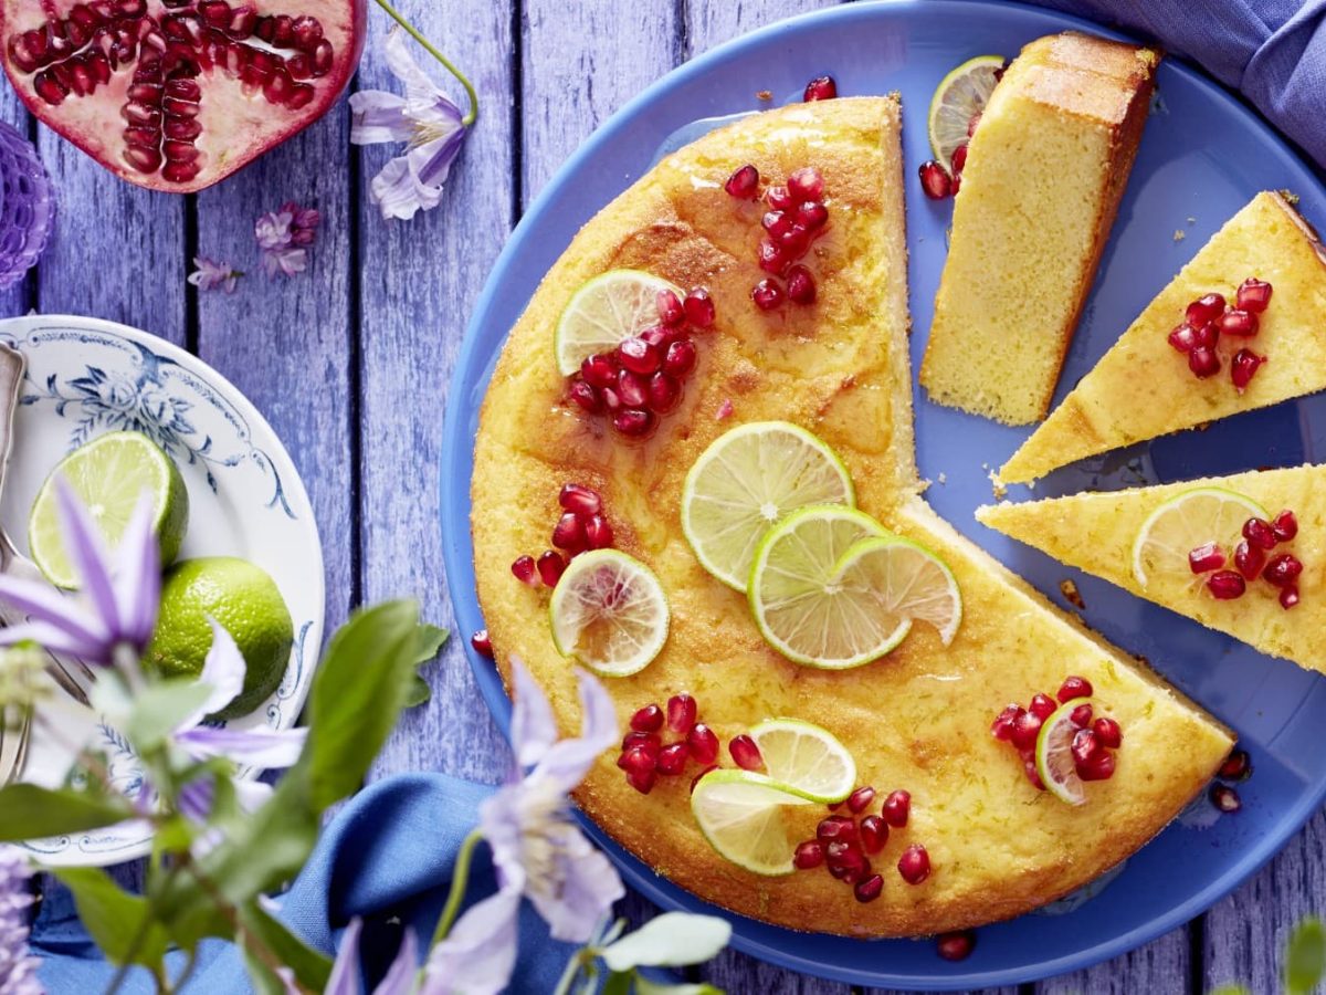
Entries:
[[659,578],[617,549],[572,560],[548,610],[557,651],[602,677],[643,670],[667,641],[667,598]]

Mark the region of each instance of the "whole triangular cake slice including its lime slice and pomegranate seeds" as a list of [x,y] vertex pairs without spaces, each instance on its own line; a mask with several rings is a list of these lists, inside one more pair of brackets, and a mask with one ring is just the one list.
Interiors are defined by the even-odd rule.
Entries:
[[976,517],[1262,653],[1326,671],[1326,467],[997,504]]

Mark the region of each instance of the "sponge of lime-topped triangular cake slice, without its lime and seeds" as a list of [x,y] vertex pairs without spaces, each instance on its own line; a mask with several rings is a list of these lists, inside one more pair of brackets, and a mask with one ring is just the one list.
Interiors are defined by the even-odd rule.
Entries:
[[[1299,601],[1290,609],[1280,602],[1281,588],[1262,577],[1246,582],[1241,597],[1217,600],[1205,586],[1205,574],[1193,574],[1187,552],[1176,551],[1168,573],[1152,570],[1143,585],[1134,574],[1134,541],[1162,504],[1203,487],[1233,491],[1260,504],[1270,516],[1294,512],[1298,532],[1277,544],[1268,560],[1289,553],[1303,564],[1297,577]],[[980,508],[976,517],[993,529],[1036,547],[1057,560],[1103,577],[1138,597],[1154,601],[1211,629],[1233,635],[1273,657],[1307,670],[1326,671],[1326,466],[1264,470],[1187,483],[1138,487],[1127,491],[1078,494],[1021,504]],[[1200,536],[1220,547],[1236,569],[1233,553],[1241,540],[1242,513],[1233,515],[1225,535]],[[1196,541],[1196,540],[1193,540]],[[1164,566],[1164,565],[1162,565]]]

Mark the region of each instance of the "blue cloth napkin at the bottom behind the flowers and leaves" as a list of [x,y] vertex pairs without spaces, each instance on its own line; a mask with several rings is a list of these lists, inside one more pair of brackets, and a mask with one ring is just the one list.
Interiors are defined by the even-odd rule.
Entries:
[[[479,803],[492,792],[440,773],[404,773],[366,788],[324,830],[308,865],[280,898],[281,918],[312,946],[334,955],[345,925],[362,917],[365,975],[377,980],[399,949],[402,929],[414,929],[427,946],[451,888],[460,841],[479,821]],[[487,848],[480,846],[467,905],[496,889]],[[389,922],[396,918],[399,923]],[[42,958],[38,976],[52,995],[105,991],[114,974],[78,921],[72,896],[56,884],[42,898],[30,946]],[[553,941],[526,903],[511,991],[548,995],[573,950]],[[170,966],[172,974],[182,970],[182,955],[172,954]],[[235,947],[204,943],[188,990],[249,991]],[[146,971],[135,970],[123,991],[147,995],[155,986]]]

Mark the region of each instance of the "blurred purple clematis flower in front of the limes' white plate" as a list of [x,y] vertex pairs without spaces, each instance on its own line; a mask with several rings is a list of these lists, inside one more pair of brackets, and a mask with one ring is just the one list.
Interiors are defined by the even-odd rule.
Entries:
[[119,549],[111,556],[91,513],[64,478],[56,480],[56,500],[65,545],[81,581],[78,594],[68,596],[40,581],[0,574],[0,598],[29,620],[0,629],[0,646],[32,639],[86,663],[137,666],[152,637],[160,597],[152,503],[146,496],[138,503]]

